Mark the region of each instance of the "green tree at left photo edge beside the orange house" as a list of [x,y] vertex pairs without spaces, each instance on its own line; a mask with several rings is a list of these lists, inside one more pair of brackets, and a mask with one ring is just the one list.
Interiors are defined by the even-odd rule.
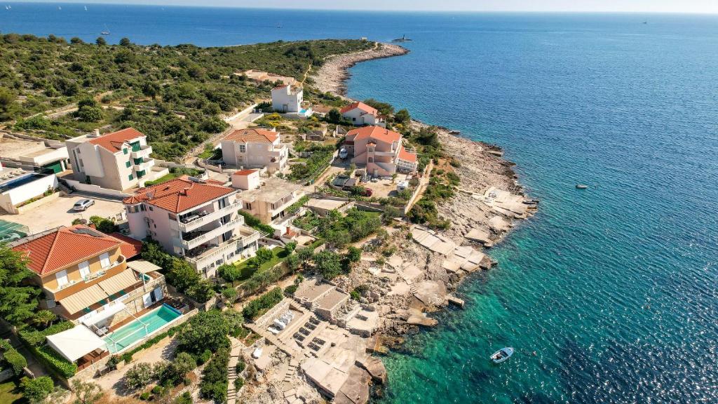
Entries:
[[32,277],[27,256],[0,244],[0,316],[14,326],[24,327],[35,316],[39,288],[24,285]]

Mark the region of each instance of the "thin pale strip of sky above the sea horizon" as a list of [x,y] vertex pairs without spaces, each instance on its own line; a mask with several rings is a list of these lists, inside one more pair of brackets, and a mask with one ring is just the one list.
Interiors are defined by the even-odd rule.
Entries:
[[[17,0],[16,0],[17,1]],[[277,9],[473,12],[679,12],[718,14],[718,0],[32,0],[48,3],[160,4]]]

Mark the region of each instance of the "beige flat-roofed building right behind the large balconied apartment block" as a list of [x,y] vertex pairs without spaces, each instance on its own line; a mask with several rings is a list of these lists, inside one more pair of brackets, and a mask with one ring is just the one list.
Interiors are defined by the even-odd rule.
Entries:
[[237,198],[241,199],[244,211],[256,216],[264,224],[271,224],[283,218],[286,209],[302,196],[302,185],[271,177],[261,180],[259,188],[243,190]]

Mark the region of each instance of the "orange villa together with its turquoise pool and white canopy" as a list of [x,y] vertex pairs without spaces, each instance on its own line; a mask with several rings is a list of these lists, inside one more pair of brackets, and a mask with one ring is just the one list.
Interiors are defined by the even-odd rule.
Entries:
[[90,367],[121,353],[182,317],[182,304],[167,298],[160,268],[139,256],[141,242],[104,234],[82,224],[43,231],[10,243],[24,252],[47,308],[75,323],[47,336],[65,359]]

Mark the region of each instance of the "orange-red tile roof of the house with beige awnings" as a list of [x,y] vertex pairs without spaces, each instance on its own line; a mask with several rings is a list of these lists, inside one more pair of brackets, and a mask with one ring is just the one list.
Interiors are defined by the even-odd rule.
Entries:
[[20,239],[12,243],[12,248],[27,253],[30,270],[47,275],[75,262],[97,257],[113,247],[121,247],[121,244],[114,237],[77,224]]

